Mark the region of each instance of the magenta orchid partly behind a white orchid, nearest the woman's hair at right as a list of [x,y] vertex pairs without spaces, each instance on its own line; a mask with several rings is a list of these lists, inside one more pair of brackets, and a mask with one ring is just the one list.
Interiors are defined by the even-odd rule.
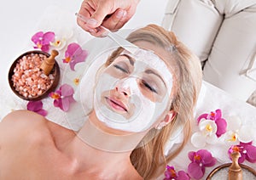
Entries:
[[216,135],[219,138],[222,134],[224,134],[227,131],[227,122],[221,116],[221,110],[215,110],[215,112],[211,112],[210,114],[200,115],[197,118],[197,122],[199,123],[202,119],[215,121],[217,125]]

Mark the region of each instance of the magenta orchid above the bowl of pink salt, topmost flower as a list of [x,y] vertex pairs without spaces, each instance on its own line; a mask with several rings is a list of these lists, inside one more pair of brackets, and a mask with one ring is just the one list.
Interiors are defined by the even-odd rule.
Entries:
[[43,32],[39,31],[34,36],[32,36],[32,42],[36,44],[34,48],[40,48],[44,52],[49,51],[49,43],[54,42],[55,40],[55,33],[48,31]]

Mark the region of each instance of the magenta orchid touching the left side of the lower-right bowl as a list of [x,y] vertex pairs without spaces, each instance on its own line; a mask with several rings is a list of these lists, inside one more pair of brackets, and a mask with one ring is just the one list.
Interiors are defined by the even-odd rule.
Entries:
[[188,166],[189,177],[200,179],[204,176],[206,167],[214,166],[216,159],[206,149],[200,149],[197,152],[189,152],[189,160],[192,162]]

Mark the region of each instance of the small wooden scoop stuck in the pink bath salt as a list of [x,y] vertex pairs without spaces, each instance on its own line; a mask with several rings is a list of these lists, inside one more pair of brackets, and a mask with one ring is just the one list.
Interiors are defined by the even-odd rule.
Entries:
[[52,50],[49,58],[44,59],[42,65],[40,65],[40,69],[43,70],[46,76],[48,76],[50,71],[53,69],[55,65],[55,56],[58,54],[58,51]]

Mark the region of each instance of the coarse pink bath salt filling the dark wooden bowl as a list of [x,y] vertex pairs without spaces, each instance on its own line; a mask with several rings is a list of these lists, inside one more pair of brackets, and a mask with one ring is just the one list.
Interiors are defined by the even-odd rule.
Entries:
[[44,54],[31,53],[20,58],[12,76],[13,86],[25,98],[35,98],[51,87],[54,74],[44,75],[40,65],[46,59]]

